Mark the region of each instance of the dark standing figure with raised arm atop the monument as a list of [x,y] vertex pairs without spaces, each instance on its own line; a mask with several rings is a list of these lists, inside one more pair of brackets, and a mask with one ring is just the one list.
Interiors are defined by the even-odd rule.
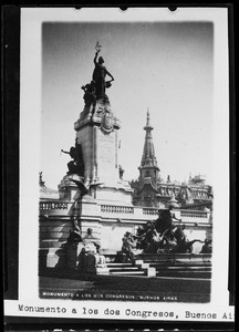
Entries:
[[[95,56],[94,56],[94,72],[92,80],[95,83],[95,95],[96,100],[105,97],[105,89],[111,86],[111,82],[114,81],[114,77],[112,74],[106,70],[106,68],[103,65],[104,59],[102,56],[98,58],[97,61],[97,55],[101,50],[97,49]],[[111,81],[105,81],[105,76],[108,75],[112,80]]]

